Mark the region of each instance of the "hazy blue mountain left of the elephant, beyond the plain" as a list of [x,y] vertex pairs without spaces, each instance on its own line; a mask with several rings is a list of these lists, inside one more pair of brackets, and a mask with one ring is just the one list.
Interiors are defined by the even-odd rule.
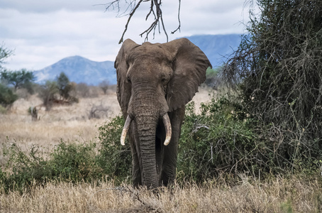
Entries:
[[114,62],[95,62],[81,56],[63,58],[49,67],[34,71],[34,74],[37,77],[37,82],[43,82],[54,80],[60,75],[60,72],[65,72],[72,82],[97,85],[103,80],[107,80],[111,84],[116,84]]

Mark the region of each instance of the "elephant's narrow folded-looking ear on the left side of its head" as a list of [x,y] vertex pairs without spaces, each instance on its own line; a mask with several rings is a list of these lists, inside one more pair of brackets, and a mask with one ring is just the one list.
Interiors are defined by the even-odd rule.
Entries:
[[138,44],[133,40],[126,39],[123,42],[121,49],[118,51],[118,55],[116,56],[114,63],[117,76],[116,93],[118,96],[118,103],[121,106],[123,115],[125,115],[126,111],[128,110],[128,102],[131,98],[131,84],[127,81],[126,78],[126,74],[128,72],[128,62],[126,61],[126,59],[131,50],[136,46],[138,46]]

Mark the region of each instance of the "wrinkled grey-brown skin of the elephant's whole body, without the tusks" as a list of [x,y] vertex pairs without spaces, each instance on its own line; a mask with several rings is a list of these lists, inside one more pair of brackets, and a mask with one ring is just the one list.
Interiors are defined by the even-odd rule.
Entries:
[[[133,157],[133,184],[149,189],[167,186],[175,179],[185,105],[206,80],[211,63],[187,38],[143,45],[127,39],[115,67],[118,102],[124,118],[132,119],[127,137]],[[165,114],[172,126],[168,146],[163,144]]]

